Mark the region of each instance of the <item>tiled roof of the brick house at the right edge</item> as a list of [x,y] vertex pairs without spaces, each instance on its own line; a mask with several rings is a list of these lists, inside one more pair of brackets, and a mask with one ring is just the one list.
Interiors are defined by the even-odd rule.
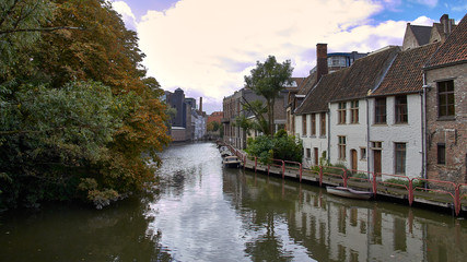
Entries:
[[467,62],[467,14],[427,62],[425,68],[436,68],[456,62]]

